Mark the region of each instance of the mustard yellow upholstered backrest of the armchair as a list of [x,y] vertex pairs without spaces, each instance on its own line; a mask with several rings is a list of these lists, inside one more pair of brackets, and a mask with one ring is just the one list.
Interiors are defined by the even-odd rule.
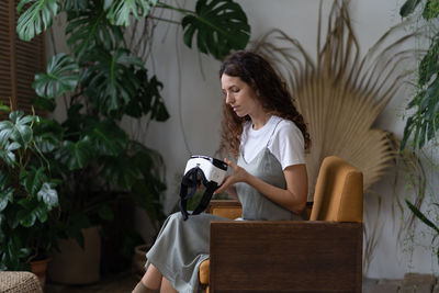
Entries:
[[309,221],[362,219],[362,172],[338,157],[326,157],[318,172]]

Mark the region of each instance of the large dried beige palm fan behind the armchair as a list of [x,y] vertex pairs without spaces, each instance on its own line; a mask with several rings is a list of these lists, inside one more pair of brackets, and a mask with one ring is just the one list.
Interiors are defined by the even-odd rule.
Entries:
[[280,30],[272,30],[254,43],[252,50],[270,59],[286,80],[308,125],[312,139],[307,156],[309,194],[314,193],[319,166],[327,156],[336,155],[359,168],[364,177],[364,191],[380,179],[395,157],[389,133],[373,128],[373,123],[406,75],[397,75],[397,69],[404,60],[413,58],[412,49],[395,50],[414,34],[383,47],[399,27],[402,25],[387,31],[360,58],[348,4],[334,1],[326,40],[320,46],[320,1],[315,64],[296,40]]

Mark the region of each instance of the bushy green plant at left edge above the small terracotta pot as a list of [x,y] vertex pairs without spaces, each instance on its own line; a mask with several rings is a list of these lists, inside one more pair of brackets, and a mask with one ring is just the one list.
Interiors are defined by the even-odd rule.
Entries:
[[45,151],[57,137],[35,132],[44,123],[20,111],[0,122],[0,270],[30,270],[56,246],[59,181]]

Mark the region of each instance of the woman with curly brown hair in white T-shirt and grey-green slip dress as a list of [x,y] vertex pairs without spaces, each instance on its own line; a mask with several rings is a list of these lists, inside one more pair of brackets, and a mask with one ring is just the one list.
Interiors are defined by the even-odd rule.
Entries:
[[[221,67],[222,147],[237,164],[215,191],[243,204],[243,219],[303,219],[307,195],[305,150],[311,140],[302,115],[270,64],[237,52]],[[209,225],[224,219],[201,214],[168,217],[147,253],[146,273],[133,292],[195,292],[199,266],[209,258]]]

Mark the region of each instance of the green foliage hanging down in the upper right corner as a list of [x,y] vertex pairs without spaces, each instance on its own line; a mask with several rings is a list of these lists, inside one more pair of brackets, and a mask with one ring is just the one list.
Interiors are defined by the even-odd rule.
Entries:
[[[407,0],[401,8],[399,14],[408,16],[416,11],[423,1]],[[425,21],[437,21],[439,2],[424,1],[423,18]],[[428,29],[426,29],[428,30]],[[407,110],[413,114],[406,121],[401,149],[404,149],[409,138],[415,148],[423,148],[432,140],[439,129],[439,32],[431,37],[427,54],[423,57],[418,69],[418,91],[408,103]]]

